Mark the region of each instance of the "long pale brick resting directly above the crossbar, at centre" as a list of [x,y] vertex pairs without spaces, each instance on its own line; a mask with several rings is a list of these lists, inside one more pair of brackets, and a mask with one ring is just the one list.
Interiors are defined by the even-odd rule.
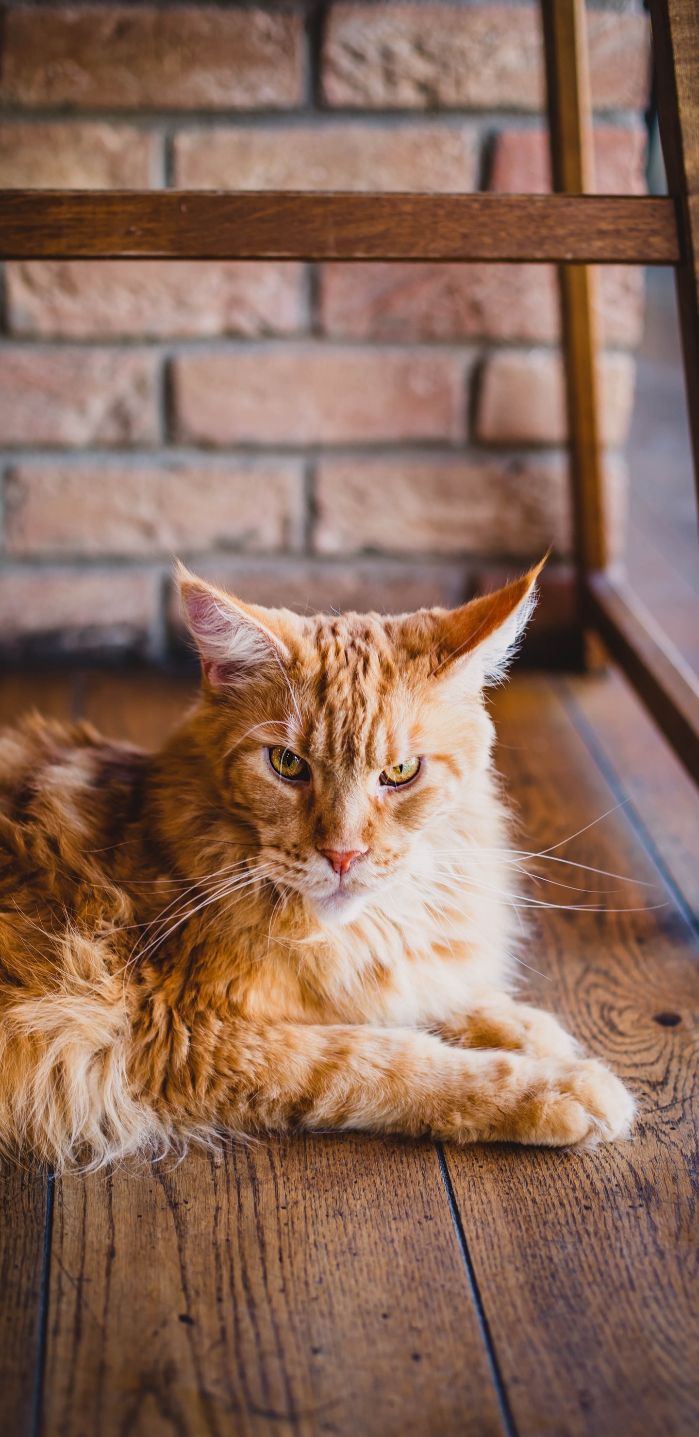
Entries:
[[472,125],[357,124],[194,129],[175,139],[184,190],[473,190]]

